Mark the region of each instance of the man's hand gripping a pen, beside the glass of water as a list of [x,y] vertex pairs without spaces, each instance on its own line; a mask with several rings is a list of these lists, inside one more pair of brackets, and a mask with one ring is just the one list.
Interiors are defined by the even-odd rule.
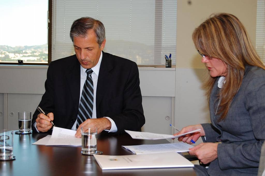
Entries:
[[42,113],[38,114],[36,126],[40,132],[46,132],[52,127],[51,121],[53,121],[53,113],[48,113],[47,116]]

